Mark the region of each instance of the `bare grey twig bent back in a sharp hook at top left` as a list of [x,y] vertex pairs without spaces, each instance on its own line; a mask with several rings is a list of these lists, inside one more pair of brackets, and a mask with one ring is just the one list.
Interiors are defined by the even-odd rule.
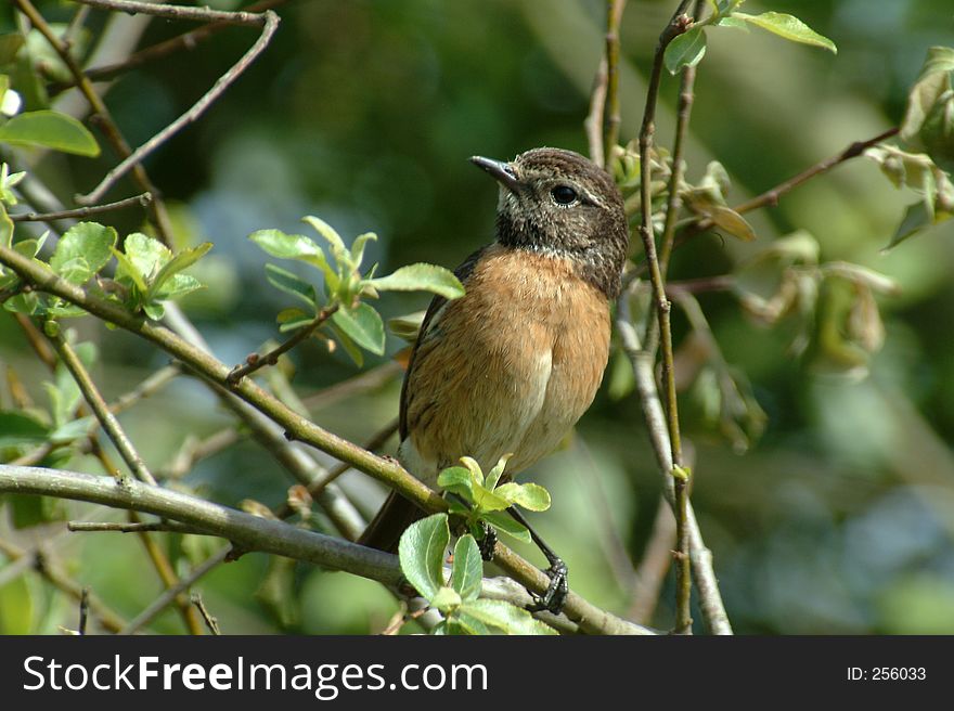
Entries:
[[[17,0],[18,2],[24,2],[25,0]],[[188,16],[190,13],[178,14],[179,11],[197,11],[196,14],[204,15],[203,18],[215,18],[221,22],[224,22],[224,17],[231,17],[229,22],[233,22],[236,25],[262,25],[261,35],[259,35],[258,39],[255,43],[248,49],[245,54],[234,64],[232,67],[225,72],[221,77],[219,77],[212,88],[209,89],[202,98],[195,102],[195,104],[182,114],[175,121],[166,126],[162,131],[156,133],[149,141],[139,146],[136,151],[133,151],[129,156],[124,158],[119,165],[109,170],[106,176],[100,181],[100,184],[96,185],[92,191],[87,193],[86,195],[78,195],[76,197],[76,202],[80,205],[89,205],[91,203],[98,203],[103,198],[103,195],[106,194],[106,191],[112,188],[117,180],[119,180],[123,176],[125,176],[129,170],[138,165],[143,158],[153,153],[156,148],[163,145],[166,141],[172,138],[176,133],[178,133],[181,129],[186,127],[188,125],[196,121],[199,116],[202,116],[206,109],[220,96],[224,91],[247,69],[253,62],[261,54],[265,49],[269,46],[269,42],[272,40],[272,36],[275,34],[275,30],[279,28],[279,16],[272,12],[271,10],[267,10],[261,15],[252,14],[252,13],[229,13],[229,12],[218,12],[211,10],[205,10],[201,8],[182,8],[179,5],[154,5],[150,3],[131,3],[131,2],[114,2],[113,0],[82,0],[85,2],[89,2],[90,4],[94,4],[96,7],[107,7],[113,5],[142,5],[143,8],[137,10],[137,12],[146,12],[149,14],[158,14],[159,16],[172,16],[172,17],[183,17],[189,20],[194,20],[197,17]],[[163,14],[163,11],[177,11],[177,13],[170,13],[168,15]],[[156,12],[153,12],[156,11]]]

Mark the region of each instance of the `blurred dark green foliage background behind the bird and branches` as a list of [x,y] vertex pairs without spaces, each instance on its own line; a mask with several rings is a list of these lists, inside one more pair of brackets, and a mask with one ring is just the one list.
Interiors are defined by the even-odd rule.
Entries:
[[[628,4],[626,141],[636,134],[652,53],[674,4]],[[56,2],[38,7],[60,22],[74,11]],[[582,120],[603,50],[604,10],[596,0],[282,5],[281,29],[266,54],[197,125],[147,161],[175,208],[181,243],[216,245],[195,271],[209,288],[183,301],[216,353],[240,362],[275,335],[274,314],[287,306],[265,283],[266,259],[246,240],[257,229],[297,231],[298,219],[311,214],[347,237],[374,231],[379,241],[369,262],[381,261],[386,272],[418,260],[453,267],[488,242],[495,188],[466,158],[508,158],[538,145],[586,152]],[[951,8],[934,0],[750,0],[744,10],[796,14],[831,38],[839,53],[759,30],[709,33],[687,177],[698,180],[706,164],[719,159],[733,179],[731,204],[897,125],[928,48],[954,44]],[[104,13],[90,15],[91,41],[104,20]],[[154,21],[140,44],[185,29]],[[105,98],[130,143],[188,108],[253,39],[253,30],[232,28],[115,81]],[[665,78],[662,145],[672,135],[676,87]],[[70,101],[64,95],[60,106]],[[50,155],[31,170],[69,198],[111,167],[105,153],[94,160]],[[132,193],[126,182],[112,195]],[[874,163],[856,159],[752,215],[757,242],[709,235],[676,251],[673,280],[718,275],[804,229],[824,260],[866,264],[903,289],[879,299],[886,342],[865,373],[836,372],[812,352],[791,358],[785,324],[764,328],[731,296],[699,296],[725,359],[748,375],[768,414],[763,436],[743,453],[706,421],[705,408],[694,402],[698,389],[682,395],[695,461],[693,502],[737,632],[954,633],[954,228],[947,222],[882,253],[911,202]],[[115,218],[120,233],[138,229],[139,219],[134,210]],[[399,315],[426,301],[388,295],[379,308],[385,316]],[[685,333],[682,314],[675,327],[678,336]],[[165,363],[162,353],[90,319],[78,328],[100,346],[94,375],[107,397]],[[402,345],[389,337],[389,353]],[[319,344],[299,348],[292,360],[301,395],[357,373],[346,355]],[[42,399],[40,384],[49,376],[9,318],[0,319],[0,361]],[[376,364],[371,358],[365,369]],[[312,416],[360,442],[396,416],[399,388],[392,378]],[[186,437],[210,435],[230,418],[197,383],[179,378],[124,414],[123,423],[152,467],[162,469]],[[67,464],[98,470],[83,456]],[[634,397],[615,399],[604,387],[568,448],[525,478],[553,493],[552,510],[533,519],[567,560],[571,586],[626,613],[633,584],[627,561],[641,559],[661,489]],[[230,505],[279,503],[288,483],[245,440],[183,481]],[[368,514],[383,497],[353,473],[344,486],[368,502]],[[68,508],[74,519],[119,516]],[[130,617],[160,592],[132,537],[69,534],[62,523],[14,531],[8,521],[0,535],[20,545],[54,540],[75,579]],[[183,569],[205,545],[191,538],[171,543]],[[199,589],[227,633],[375,632],[397,609],[375,583],[307,566],[270,569],[261,555],[220,566]],[[672,598],[670,579],[654,624],[671,624]],[[37,576],[0,587],[4,633],[55,632],[75,626],[75,603]],[[171,633],[182,625],[167,611],[152,629]]]

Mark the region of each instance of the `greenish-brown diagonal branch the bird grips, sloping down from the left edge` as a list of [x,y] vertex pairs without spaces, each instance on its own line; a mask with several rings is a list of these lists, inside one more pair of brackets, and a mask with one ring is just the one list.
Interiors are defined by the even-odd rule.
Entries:
[[[10,267],[22,279],[41,290],[59,296],[103,321],[154,342],[188,364],[204,379],[225,387],[229,366],[168,328],[156,325],[141,315],[131,314],[118,303],[88,294],[85,289],[61,279],[46,264],[28,259],[9,247],[0,246],[0,263]],[[254,380],[243,379],[232,392],[283,427],[288,439],[306,442],[341,462],[348,462],[356,469],[400,492],[424,510],[431,513],[447,510],[447,502],[443,497],[409,474],[396,460],[377,456],[309,422],[271,397]],[[500,543],[495,555],[498,564],[519,583],[538,593],[546,590],[550,579],[542,571]],[[579,622],[585,632],[613,634],[632,632],[636,629],[632,623],[596,608],[575,593],[570,593],[564,609],[567,617]]]

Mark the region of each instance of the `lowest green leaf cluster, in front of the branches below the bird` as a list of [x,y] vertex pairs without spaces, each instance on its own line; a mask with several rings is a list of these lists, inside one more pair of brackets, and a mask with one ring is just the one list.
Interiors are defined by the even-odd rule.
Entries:
[[527,610],[479,598],[484,565],[473,535],[461,537],[454,545],[446,581],[450,538],[447,514],[434,514],[410,526],[398,547],[408,582],[443,616],[434,634],[556,634]]

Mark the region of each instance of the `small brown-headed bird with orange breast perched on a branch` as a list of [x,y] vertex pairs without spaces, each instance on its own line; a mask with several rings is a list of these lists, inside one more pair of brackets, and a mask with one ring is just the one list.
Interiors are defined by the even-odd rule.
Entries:
[[[603,379],[629,249],[619,189],[584,156],[470,161],[499,183],[495,240],[454,271],[464,296],[430,302],[400,396],[398,460],[431,488],[464,455],[488,471],[510,454],[512,478],[556,449]],[[397,552],[424,515],[391,492],[359,543]],[[558,610],[566,566],[531,533],[551,564],[540,608]]]

